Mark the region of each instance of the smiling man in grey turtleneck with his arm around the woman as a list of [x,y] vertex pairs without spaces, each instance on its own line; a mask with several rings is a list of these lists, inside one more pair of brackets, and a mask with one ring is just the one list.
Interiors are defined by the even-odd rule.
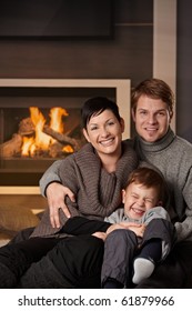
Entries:
[[[170,215],[179,241],[165,262],[137,288],[192,288],[192,144],[170,128],[174,97],[164,81],[144,80],[133,90],[131,100],[137,130],[134,149],[140,160],[156,167],[168,182]],[[59,209],[70,217],[63,198],[75,198],[60,184],[58,167],[55,162],[54,172],[49,169],[40,185],[48,198],[51,223],[59,228]]]

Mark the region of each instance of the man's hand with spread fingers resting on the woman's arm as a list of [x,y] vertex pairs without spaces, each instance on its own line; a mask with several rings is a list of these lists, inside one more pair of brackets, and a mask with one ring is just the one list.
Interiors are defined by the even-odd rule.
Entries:
[[73,192],[59,182],[52,182],[47,188],[48,205],[50,210],[50,222],[53,228],[60,228],[59,210],[61,209],[67,218],[71,214],[67,204],[64,203],[65,197],[72,202],[75,202]]

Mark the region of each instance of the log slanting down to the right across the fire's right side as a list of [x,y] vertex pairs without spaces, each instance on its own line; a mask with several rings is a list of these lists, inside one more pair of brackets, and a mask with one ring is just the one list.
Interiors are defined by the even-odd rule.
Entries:
[[81,148],[80,141],[69,137],[69,133],[68,134],[63,134],[63,133],[55,132],[49,126],[44,126],[43,127],[43,132],[46,134],[52,137],[57,141],[61,142],[62,144],[70,144],[70,146],[72,146],[74,151],[78,151]]

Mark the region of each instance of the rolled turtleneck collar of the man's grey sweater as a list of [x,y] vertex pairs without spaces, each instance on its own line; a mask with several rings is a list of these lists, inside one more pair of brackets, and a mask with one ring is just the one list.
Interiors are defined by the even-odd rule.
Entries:
[[162,139],[160,139],[155,142],[148,142],[148,141],[143,140],[141,137],[137,136],[134,143],[135,143],[135,147],[138,147],[138,148],[140,147],[139,149],[141,149],[143,151],[158,152],[158,151],[165,149],[173,141],[174,138],[175,138],[174,132],[171,130],[171,128],[169,128],[166,134]]

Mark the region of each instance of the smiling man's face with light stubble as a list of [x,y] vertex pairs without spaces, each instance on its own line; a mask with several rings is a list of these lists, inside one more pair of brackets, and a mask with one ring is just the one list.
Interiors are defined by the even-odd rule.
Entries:
[[141,96],[132,117],[138,134],[145,141],[154,142],[165,136],[172,116],[161,99]]

